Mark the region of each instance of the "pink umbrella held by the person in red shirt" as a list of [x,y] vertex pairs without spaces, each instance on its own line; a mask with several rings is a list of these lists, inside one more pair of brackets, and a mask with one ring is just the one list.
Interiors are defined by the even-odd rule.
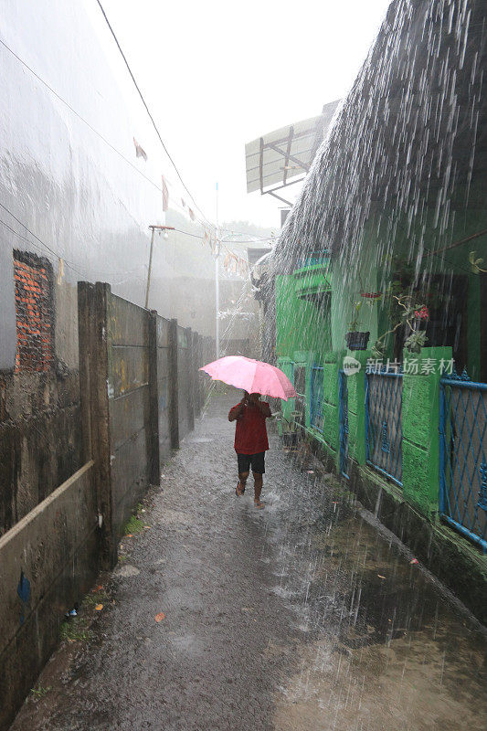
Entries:
[[200,371],[205,371],[214,381],[243,388],[249,394],[283,398],[284,401],[297,396],[290,379],[279,368],[243,355],[226,355],[204,365]]

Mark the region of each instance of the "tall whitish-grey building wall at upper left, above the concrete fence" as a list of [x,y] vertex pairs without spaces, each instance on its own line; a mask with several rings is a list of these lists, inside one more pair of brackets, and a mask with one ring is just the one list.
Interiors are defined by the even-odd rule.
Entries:
[[[74,285],[107,281],[143,305],[147,227],[164,223],[158,186],[162,174],[175,173],[93,0],[3,0],[0,41],[0,368],[15,360],[14,248],[52,261],[57,355],[75,367]],[[134,137],[147,162],[136,157]],[[177,212],[166,222],[195,231]],[[205,284],[181,287],[178,277]],[[209,249],[197,238],[171,232],[156,239],[150,307],[212,334],[213,277]],[[188,291],[199,304],[189,311]],[[221,309],[227,306],[224,300]]]

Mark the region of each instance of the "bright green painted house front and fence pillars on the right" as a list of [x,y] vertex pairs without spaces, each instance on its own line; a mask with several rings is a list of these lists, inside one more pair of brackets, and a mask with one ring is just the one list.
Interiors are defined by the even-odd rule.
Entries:
[[[459,195],[463,195],[460,191]],[[313,436],[323,443],[328,453],[339,461],[339,381],[338,372],[343,364],[344,334],[353,318],[354,302],[360,301],[362,291],[386,291],[391,281],[391,254],[403,259],[416,256],[418,242],[424,252],[449,247],[452,243],[471,237],[487,228],[487,212],[482,198],[474,192],[471,209],[461,216],[451,217],[447,230],[435,221],[434,211],[424,211],[416,226],[408,227],[408,221],[393,220],[392,215],[382,212],[372,217],[364,229],[360,251],[345,253],[343,260],[332,260],[323,269],[323,281],[331,285],[329,298],[323,298],[322,312],[304,299],[297,291],[304,291],[306,282],[319,287],[320,273],[310,270],[307,280],[303,272],[297,276],[276,278],[277,355],[288,357],[306,365],[306,426]],[[453,208],[452,208],[453,209]],[[391,245],[392,244],[392,245]],[[346,252],[346,249],[344,249]],[[481,313],[481,281],[471,270],[470,251],[483,258],[482,268],[487,268],[487,235],[471,239],[461,246],[438,253],[424,254],[418,277],[443,275],[448,281],[451,275],[461,277],[466,299],[467,365],[472,378],[480,378],[481,338],[485,326],[485,314]],[[318,278],[318,279],[317,279]],[[438,284],[431,285],[431,290]],[[436,292],[431,292],[435,296]],[[428,302],[425,302],[428,304]],[[482,321],[483,317],[483,321]],[[359,330],[370,331],[369,348],[376,338],[394,323],[388,319],[388,308],[382,302],[369,306],[363,304],[359,313]],[[392,358],[393,336],[386,340],[386,357]],[[352,355],[362,364],[362,370],[347,377],[349,456],[359,464],[365,464],[365,364],[369,351]],[[411,357],[407,354],[408,358]],[[434,519],[439,507],[439,370],[433,374],[421,374],[421,362],[425,358],[441,358],[449,361],[451,348],[425,347],[418,356],[418,374],[406,373],[403,378],[402,404],[402,451],[403,495],[422,514]],[[285,360],[281,360],[285,364]],[[310,427],[311,366],[323,365],[323,432]],[[284,407],[291,411],[291,406]]]

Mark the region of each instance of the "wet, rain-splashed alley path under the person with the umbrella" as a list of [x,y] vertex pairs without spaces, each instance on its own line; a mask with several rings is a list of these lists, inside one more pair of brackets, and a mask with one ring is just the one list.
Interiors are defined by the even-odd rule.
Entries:
[[484,729],[482,630],[339,482],[272,438],[266,509],[251,481],[235,496],[238,398],[164,468],[92,640],[64,643],[13,731]]

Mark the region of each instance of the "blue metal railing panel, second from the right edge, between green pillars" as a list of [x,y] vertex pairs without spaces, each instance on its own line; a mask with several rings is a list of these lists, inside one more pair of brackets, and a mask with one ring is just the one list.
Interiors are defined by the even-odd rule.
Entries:
[[367,464],[402,487],[402,382],[395,370],[365,374]]

